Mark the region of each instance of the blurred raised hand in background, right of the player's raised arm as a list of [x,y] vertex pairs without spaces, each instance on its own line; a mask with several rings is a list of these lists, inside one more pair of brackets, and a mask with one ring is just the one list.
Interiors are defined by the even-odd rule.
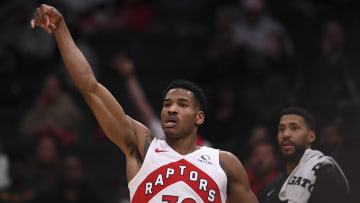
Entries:
[[112,65],[124,78],[130,77],[134,72],[134,63],[122,53],[115,55]]

